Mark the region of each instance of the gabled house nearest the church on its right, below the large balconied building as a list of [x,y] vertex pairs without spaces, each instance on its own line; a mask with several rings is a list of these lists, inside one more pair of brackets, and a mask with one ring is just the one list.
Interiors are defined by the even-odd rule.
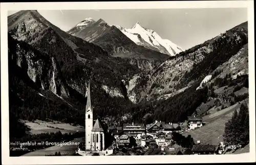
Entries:
[[136,139],[130,133],[122,132],[119,134],[117,144],[118,148],[132,148],[136,144]]

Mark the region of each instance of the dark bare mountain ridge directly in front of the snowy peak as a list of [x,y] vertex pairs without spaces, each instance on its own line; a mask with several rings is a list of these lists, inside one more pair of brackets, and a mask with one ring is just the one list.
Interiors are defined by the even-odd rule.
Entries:
[[83,26],[79,29],[76,27],[72,28],[68,33],[100,46],[104,51],[109,52],[109,54],[113,55],[115,53],[114,57],[153,61],[164,61],[168,58],[167,55],[156,50],[137,45],[119,31],[115,26],[110,26],[103,19],[99,19],[89,26]]

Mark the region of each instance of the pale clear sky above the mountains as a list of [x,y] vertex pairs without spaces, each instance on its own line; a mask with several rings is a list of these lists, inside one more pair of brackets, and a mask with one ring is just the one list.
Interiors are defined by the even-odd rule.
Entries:
[[[17,11],[8,11],[11,15]],[[132,28],[136,22],[187,50],[247,21],[246,8],[38,10],[53,25],[68,31],[87,17]]]

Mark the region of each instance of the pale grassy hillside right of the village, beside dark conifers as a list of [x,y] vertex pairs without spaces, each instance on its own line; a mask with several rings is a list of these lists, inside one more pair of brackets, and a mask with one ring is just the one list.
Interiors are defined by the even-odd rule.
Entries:
[[[248,104],[249,100],[246,99],[245,101]],[[233,111],[239,109],[240,106],[241,104],[237,103],[213,114],[206,115],[203,117],[203,122],[206,123],[205,126],[184,132],[182,135],[191,135],[195,142],[200,140],[201,144],[218,145],[219,142],[223,142],[225,123],[231,119]]]

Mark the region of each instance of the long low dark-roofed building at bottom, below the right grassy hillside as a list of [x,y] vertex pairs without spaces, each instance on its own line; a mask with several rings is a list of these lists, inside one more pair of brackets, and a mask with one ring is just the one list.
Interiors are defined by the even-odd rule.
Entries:
[[218,154],[219,146],[215,145],[194,145],[191,149],[194,155]]

